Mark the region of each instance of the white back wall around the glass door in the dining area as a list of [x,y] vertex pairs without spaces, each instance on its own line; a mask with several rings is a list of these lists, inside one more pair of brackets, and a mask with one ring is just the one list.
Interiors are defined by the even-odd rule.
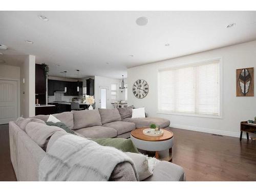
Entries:
[[113,105],[111,104],[111,83],[117,83],[118,87],[118,100],[121,100],[120,98],[122,97],[122,94],[119,90],[119,86],[121,84],[121,79],[115,79],[115,78],[107,78],[107,77],[100,77],[100,76],[95,76],[94,78],[94,98],[95,98],[95,108],[99,108],[99,103],[98,103],[98,98],[99,98],[99,87],[100,86],[106,86],[109,88],[109,101],[107,104],[108,109],[112,109]]

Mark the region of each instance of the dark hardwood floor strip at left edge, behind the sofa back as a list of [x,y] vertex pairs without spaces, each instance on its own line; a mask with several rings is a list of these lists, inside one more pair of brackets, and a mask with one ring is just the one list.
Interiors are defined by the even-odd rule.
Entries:
[[0,181],[17,181],[10,157],[9,124],[0,125]]

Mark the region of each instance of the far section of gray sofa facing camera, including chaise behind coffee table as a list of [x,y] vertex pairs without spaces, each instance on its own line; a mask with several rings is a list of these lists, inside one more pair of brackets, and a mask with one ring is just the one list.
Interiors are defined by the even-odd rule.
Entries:
[[[132,114],[127,114],[127,110],[126,116],[120,113],[122,114],[117,109],[98,109],[63,112],[53,116],[87,138],[130,138],[131,131],[138,127],[148,127],[151,123],[156,123],[160,128],[165,128],[170,124],[169,120],[162,118],[132,119]],[[47,121],[49,115],[37,115],[33,118]]]

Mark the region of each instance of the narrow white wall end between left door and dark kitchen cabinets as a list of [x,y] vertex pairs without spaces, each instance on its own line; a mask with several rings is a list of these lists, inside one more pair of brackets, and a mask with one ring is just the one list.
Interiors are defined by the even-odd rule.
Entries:
[[[23,83],[23,78],[25,83]],[[20,67],[20,115],[35,115],[35,56],[28,55]]]

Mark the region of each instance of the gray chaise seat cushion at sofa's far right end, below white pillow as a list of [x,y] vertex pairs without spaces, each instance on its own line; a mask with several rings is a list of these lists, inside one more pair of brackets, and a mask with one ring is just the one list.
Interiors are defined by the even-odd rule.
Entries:
[[149,127],[150,124],[155,123],[160,128],[165,128],[170,125],[170,121],[168,119],[156,118],[156,117],[146,117],[146,118],[125,118],[123,121],[133,122],[136,124],[136,128],[139,127]]

